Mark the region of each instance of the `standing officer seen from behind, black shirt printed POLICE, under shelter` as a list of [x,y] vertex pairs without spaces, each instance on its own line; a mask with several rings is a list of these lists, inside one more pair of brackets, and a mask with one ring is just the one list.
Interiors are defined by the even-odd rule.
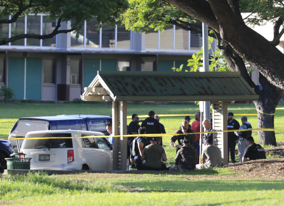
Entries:
[[[149,111],[148,113],[149,117],[146,118],[141,126],[146,127],[146,134],[161,134],[161,126],[160,123],[155,119],[155,112],[154,111]],[[150,144],[150,138],[145,138],[147,143]],[[161,142],[161,137],[158,139],[158,144]]]

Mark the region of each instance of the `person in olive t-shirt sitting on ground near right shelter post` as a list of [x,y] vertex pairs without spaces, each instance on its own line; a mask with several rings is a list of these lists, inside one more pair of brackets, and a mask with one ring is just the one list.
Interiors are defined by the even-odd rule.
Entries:
[[195,166],[197,170],[223,166],[221,150],[219,147],[212,144],[212,139],[206,139],[206,147],[203,148],[201,153],[201,164]]

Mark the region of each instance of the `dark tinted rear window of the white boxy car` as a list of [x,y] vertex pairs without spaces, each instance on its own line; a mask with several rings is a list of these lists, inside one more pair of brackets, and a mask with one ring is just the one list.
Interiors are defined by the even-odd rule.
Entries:
[[[71,137],[71,133],[46,134],[44,137]],[[23,144],[22,149],[35,148],[72,148],[72,139],[27,139]]]

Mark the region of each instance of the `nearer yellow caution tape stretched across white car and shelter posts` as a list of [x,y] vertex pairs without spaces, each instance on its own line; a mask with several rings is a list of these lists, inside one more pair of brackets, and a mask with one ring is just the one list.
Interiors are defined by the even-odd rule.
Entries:
[[[275,128],[256,128],[256,129],[235,129],[235,130],[215,130],[210,132],[192,132],[192,133],[185,133],[185,134],[125,134],[125,135],[113,135],[112,137],[164,137],[164,136],[179,136],[179,135],[187,135],[187,134],[205,134],[205,133],[217,133],[217,132],[238,132],[238,131],[284,131],[284,129],[275,129]],[[99,138],[99,137],[109,137],[107,135],[101,136],[84,136],[84,137],[17,137],[14,138],[15,140],[36,140],[36,139],[72,139],[72,138]]]

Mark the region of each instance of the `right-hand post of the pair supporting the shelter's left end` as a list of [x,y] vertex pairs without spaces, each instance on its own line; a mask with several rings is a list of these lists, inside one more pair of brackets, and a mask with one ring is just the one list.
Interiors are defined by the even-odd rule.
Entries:
[[[120,102],[120,135],[127,134],[127,101]],[[120,137],[120,170],[126,170],[127,137]]]

